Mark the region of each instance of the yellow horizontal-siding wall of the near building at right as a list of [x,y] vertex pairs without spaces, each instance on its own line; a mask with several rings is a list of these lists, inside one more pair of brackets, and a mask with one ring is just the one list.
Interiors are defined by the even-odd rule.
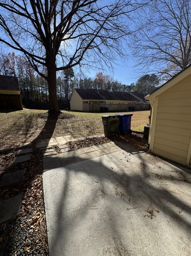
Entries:
[[191,75],[158,96],[152,151],[181,164],[186,164],[191,138],[190,84]]

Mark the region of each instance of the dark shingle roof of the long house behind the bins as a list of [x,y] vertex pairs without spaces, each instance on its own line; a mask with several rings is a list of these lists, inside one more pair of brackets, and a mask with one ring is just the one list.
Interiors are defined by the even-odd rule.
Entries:
[[136,97],[128,92],[108,92],[97,89],[75,89],[82,100],[126,100],[138,101]]

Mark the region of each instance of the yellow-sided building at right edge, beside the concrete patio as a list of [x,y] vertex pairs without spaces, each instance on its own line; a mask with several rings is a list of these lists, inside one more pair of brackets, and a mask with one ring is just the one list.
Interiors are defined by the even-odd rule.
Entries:
[[191,65],[145,99],[152,107],[150,151],[191,164]]

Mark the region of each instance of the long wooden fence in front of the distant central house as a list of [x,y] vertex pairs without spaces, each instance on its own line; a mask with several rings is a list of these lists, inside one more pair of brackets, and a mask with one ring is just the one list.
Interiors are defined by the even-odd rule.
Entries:
[[[83,103],[85,112],[107,112],[102,108],[108,108],[108,112],[126,112],[132,110],[149,110],[150,104],[95,104]],[[133,108],[133,109],[132,109]]]

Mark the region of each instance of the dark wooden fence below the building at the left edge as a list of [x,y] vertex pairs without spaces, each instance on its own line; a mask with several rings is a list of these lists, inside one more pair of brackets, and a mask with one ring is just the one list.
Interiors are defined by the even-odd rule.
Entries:
[[22,110],[21,94],[0,93],[0,109],[18,109]]

